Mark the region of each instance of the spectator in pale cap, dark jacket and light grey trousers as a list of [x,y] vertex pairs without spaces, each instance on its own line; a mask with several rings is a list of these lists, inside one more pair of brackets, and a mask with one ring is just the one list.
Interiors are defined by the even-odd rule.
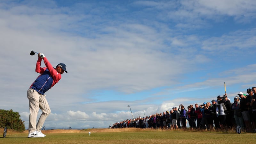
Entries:
[[236,120],[236,125],[239,125],[242,129],[244,129],[244,119],[242,116],[241,109],[239,108],[239,100],[240,98],[238,96],[234,97],[234,103],[232,104],[232,109],[234,110],[234,118]]

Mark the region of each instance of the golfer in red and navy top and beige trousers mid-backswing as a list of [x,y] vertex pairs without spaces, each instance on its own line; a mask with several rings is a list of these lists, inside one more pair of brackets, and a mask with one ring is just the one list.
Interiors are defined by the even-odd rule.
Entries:
[[[41,61],[44,60],[46,67],[41,68]],[[40,138],[45,137],[41,132],[41,128],[45,119],[51,113],[49,104],[45,98],[45,92],[52,88],[61,79],[61,74],[64,71],[67,73],[66,65],[60,63],[56,68],[52,67],[51,63],[47,60],[43,53],[38,53],[38,60],[36,62],[36,72],[41,75],[38,76],[33,84],[28,89],[27,96],[29,102],[29,123],[28,123],[28,137]],[[43,111],[37,124],[36,117],[39,108]]]

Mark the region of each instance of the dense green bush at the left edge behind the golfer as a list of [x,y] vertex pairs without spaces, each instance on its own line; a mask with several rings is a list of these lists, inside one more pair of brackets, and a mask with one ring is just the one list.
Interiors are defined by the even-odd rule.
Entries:
[[0,109],[0,128],[7,127],[7,129],[12,129],[15,131],[23,132],[25,131],[24,121],[20,119],[18,112],[13,112],[11,110]]

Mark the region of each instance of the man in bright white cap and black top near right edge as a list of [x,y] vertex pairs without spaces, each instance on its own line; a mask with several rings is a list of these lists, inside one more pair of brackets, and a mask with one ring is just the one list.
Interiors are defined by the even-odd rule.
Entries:
[[250,116],[249,116],[249,111],[246,105],[246,97],[244,97],[243,92],[239,92],[237,95],[239,95],[240,97],[240,103],[238,105],[238,107],[241,110],[243,119],[244,119],[244,123],[245,123],[245,130],[246,132],[251,132],[252,131],[252,124],[250,122]]

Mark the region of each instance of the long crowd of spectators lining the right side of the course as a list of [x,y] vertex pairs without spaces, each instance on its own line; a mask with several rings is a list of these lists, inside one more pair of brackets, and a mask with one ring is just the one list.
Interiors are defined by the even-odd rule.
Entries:
[[256,87],[247,89],[247,94],[239,92],[231,102],[225,93],[211,103],[191,104],[187,109],[179,105],[163,113],[110,124],[109,128],[187,129],[188,123],[191,130],[229,130],[239,125],[244,132],[256,132]]

